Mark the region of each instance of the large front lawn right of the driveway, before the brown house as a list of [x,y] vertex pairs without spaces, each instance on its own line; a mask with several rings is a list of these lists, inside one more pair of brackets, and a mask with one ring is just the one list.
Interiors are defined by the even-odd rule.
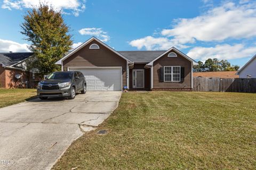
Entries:
[[255,160],[256,94],[129,92],[53,169],[256,169]]

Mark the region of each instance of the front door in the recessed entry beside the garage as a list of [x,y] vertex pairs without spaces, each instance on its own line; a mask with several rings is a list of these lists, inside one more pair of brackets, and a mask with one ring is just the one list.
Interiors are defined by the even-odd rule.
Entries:
[[144,70],[134,69],[132,70],[132,87],[133,88],[144,88]]

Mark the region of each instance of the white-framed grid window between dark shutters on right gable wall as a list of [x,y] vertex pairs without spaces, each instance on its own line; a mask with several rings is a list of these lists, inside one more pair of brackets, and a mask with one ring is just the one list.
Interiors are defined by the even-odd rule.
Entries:
[[164,82],[179,82],[180,66],[164,66]]

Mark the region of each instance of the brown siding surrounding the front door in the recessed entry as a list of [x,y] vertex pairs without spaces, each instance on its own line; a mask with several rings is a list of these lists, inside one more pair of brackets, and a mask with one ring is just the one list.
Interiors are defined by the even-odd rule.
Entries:
[[[144,66],[145,66],[146,64],[134,64],[134,67],[133,67],[133,69],[144,69]],[[133,87],[132,87],[132,79],[133,79],[133,75],[132,75],[132,70],[133,69],[130,69],[129,70],[129,89],[133,89]],[[144,69],[144,89],[150,89],[150,74],[151,74],[151,72],[150,72],[150,69]],[[134,88],[134,89],[138,89],[138,88]]]

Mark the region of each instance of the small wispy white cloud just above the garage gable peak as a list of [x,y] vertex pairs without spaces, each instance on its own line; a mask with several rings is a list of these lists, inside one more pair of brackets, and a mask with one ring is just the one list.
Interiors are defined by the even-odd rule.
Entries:
[[102,28],[83,28],[78,32],[81,33],[81,35],[95,36],[103,42],[107,42],[110,39],[107,32],[103,31]]

